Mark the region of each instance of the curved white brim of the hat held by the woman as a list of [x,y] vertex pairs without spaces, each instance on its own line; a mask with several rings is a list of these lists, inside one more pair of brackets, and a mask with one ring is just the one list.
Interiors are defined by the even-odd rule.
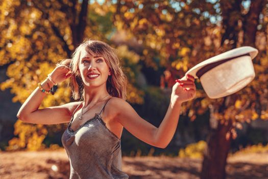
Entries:
[[226,60],[226,59],[233,59],[233,58],[236,58],[238,56],[242,56],[242,55],[246,55],[246,54],[249,54],[251,59],[254,59],[258,54],[258,50],[253,48],[253,47],[249,47],[249,46],[232,49],[230,51],[224,52],[220,55],[216,55],[216,56],[211,57],[205,61],[202,61],[201,63],[197,64],[196,66],[193,66],[193,68],[188,70],[185,75],[191,75],[194,78],[199,78],[197,76],[197,73],[204,66],[211,64],[211,63],[214,63],[214,62]]

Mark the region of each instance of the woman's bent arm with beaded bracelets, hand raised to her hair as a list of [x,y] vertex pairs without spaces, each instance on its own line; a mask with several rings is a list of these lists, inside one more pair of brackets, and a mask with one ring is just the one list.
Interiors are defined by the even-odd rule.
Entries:
[[[62,82],[71,76],[70,69],[67,66],[59,65],[51,73],[52,80],[56,83]],[[67,74],[67,75],[66,75]],[[53,86],[53,82],[45,79],[41,83],[41,87],[48,91]],[[47,94],[40,91],[39,87],[32,92],[27,100],[20,107],[17,118],[35,124],[58,124],[68,122],[70,119],[70,109],[76,104],[68,103],[61,106],[47,107],[38,109],[42,100]]]

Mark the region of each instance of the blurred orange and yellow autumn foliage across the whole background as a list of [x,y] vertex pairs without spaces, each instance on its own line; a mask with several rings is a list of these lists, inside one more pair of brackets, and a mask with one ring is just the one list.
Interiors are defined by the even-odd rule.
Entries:
[[[142,104],[144,92],[137,85],[142,68],[163,72],[154,85],[168,89],[174,79],[183,77],[197,63],[236,47],[252,46],[259,54],[253,60],[256,77],[249,85],[231,96],[209,99],[197,80],[196,99],[182,106],[182,115],[191,121],[209,111],[208,153],[224,153],[219,160],[226,161],[230,142],[237,137],[242,123],[268,119],[267,7],[267,2],[261,0],[140,0],[103,4],[4,0],[0,4],[0,65],[8,64],[9,79],[0,87],[10,88],[15,94],[12,100],[23,103],[55,64],[70,58],[83,38],[89,37],[109,42],[118,50],[129,80],[127,100]],[[119,45],[122,41],[129,47]],[[151,80],[148,83],[152,84]],[[66,81],[40,107],[70,101]],[[59,131],[66,127],[59,126],[18,120],[14,131],[18,138],[12,139],[7,149],[41,149],[49,128]],[[206,165],[213,167],[213,162],[204,162]],[[224,162],[222,166],[225,167]]]

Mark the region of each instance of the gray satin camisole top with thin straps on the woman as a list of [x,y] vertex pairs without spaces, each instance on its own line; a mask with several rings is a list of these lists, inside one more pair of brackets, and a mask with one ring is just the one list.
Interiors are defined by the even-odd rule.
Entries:
[[70,179],[129,178],[121,171],[121,141],[101,118],[105,105],[100,113],[96,113],[76,131],[70,127],[74,120],[74,111],[62,135],[61,142],[70,161]]

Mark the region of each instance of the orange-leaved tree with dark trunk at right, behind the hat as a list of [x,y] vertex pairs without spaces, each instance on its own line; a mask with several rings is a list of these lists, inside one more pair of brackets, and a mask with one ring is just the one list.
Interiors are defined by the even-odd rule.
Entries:
[[[171,65],[181,71],[179,77],[188,68],[218,53],[245,45],[259,49],[253,61],[256,78],[247,87],[225,98],[208,99],[197,83],[200,89],[197,99],[182,108],[190,119],[210,111],[210,133],[201,178],[225,178],[226,160],[230,142],[236,138],[236,128],[241,128],[243,122],[268,117],[268,86],[264,82],[268,63],[265,5],[266,1],[224,0],[117,3],[117,24],[144,44],[143,59],[151,62],[150,65],[166,68]],[[264,36],[264,45],[256,40],[258,36]],[[157,64],[152,56],[159,56],[160,62]]]

